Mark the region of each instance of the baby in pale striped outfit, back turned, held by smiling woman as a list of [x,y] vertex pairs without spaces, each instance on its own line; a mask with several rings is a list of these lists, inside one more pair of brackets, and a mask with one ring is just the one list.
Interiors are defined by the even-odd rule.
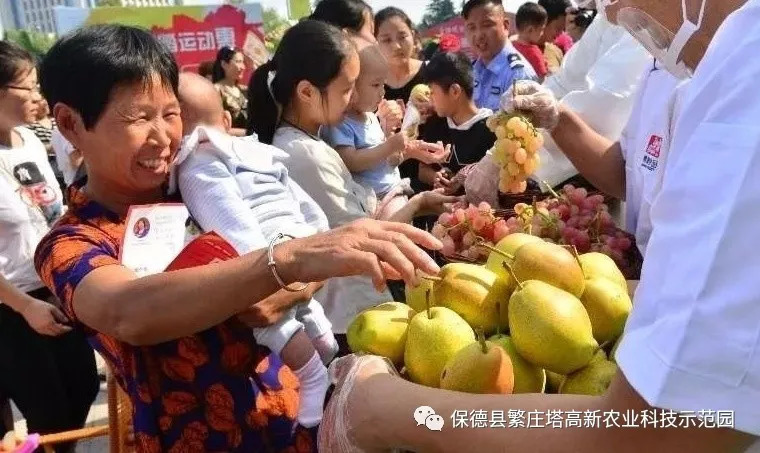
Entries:
[[[229,113],[208,80],[182,73],[179,98],[185,138],[170,190],[179,189],[204,231],[215,231],[242,255],[266,248],[280,233],[304,237],[329,229],[319,206],[275,163],[281,150],[253,137],[227,134]],[[304,294],[313,291],[312,285]],[[317,426],[329,386],[325,365],[338,351],[322,306],[311,298],[275,325],[254,328],[253,334],[299,378],[299,423]]]

